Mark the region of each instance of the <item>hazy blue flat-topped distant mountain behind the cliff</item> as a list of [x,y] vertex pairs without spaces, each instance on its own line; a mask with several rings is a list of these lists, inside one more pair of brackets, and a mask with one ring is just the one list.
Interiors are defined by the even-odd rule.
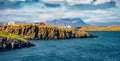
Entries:
[[88,26],[88,24],[83,22],[83,20],[80,18],[57,19],[57,20],[46,21],[46,23],[48,25],[54,25],[54,26],[68,26],[68,25],[75,27]]

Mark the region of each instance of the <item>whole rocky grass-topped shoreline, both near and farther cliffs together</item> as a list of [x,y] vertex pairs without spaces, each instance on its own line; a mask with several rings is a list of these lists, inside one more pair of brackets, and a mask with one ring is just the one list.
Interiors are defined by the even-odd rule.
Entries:
[[96,37],[74,27],[41,24],[1,24],[0,50],[34,46],[28,40],[50,40]]

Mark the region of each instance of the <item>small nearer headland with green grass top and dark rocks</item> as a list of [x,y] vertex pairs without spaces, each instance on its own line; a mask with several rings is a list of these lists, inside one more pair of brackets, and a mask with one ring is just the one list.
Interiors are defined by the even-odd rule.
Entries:
[[0,51],[19,49],[31,46],[34,46],[34,44],[23,39],[22,36],[0,31]]

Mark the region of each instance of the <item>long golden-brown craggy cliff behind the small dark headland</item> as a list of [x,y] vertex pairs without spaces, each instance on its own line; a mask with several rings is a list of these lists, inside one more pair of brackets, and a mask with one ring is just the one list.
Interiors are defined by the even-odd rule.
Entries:
[[74,28],[39,26],[34,24],[2,25],[0,31],[24,35],[26,39],[67,39],[91,37],[87,32]]

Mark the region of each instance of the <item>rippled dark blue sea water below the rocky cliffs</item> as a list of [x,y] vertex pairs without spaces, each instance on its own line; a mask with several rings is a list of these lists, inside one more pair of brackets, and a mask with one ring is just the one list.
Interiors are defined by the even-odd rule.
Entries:
[[34,47],[0,52],[0,61],[120,61],[120,32],[98,38],[36,40]]

